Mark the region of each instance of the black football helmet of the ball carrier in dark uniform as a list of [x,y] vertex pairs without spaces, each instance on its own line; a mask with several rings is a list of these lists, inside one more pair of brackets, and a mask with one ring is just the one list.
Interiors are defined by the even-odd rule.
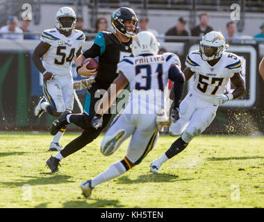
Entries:
[[[131,32],[127,31],[124,24],[124,22],[127,20],[134,21],[133,31]],[[122,7],[115,10],[115,12],[113,12],[111,16],[111,25],[113,29],[126,37],[132,37],[133,35],[138,33],[138,17],[137,15],[135,15],[135,12],[131,8]]]

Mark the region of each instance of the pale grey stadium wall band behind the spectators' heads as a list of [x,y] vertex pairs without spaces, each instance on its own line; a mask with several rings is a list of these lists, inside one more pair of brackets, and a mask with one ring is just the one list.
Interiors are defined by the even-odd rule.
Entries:
[[[62,7],[63,5],[42,5],[40,8],[40,24],[34,25],[33,22],[29,26],[31,31],[39,31],[42,32],[44,29],[53,28],[55,24],[55,14],[56,11]],[[72,6],[74,8],[74,6]],[[76,10],[76,8],[74,8]],[[201,12],[207,12],[209,15],[209,25],[213,27],[215,31],[226,32],[226,23],[230,21],[230,13],[225,11],[197,11],[197,15]],[[90,10],[88,7],[82,8],[83,19],[85,21],[84,28],[91,28],[90,24]],[[113,8],[99,8],[98,17],[104,16],[108,19],[108,28],[111,29],[110,26],[110,16],[113,12]],[[140,18],[141,10],[135,8],[135,12]],[[190,33],[189,20],[190,20],[190,11],[188,10],[151,10],[147,11],[149,17],[149,28],[154,28],[158,33],[165,34],[165,32],[174,26],[179,17],[184,17],[188,21],[186,29]],[[78,15],[77,15],[78,16]],[[245,12],[245,26],[244,30],[238,35],[256,35],[261,32],[259,28],[264,21],[264,14],[261,12]],[[235,21],[236,22],[236,21]],[[196,24],[199,23],[199,19],[197,17]]]

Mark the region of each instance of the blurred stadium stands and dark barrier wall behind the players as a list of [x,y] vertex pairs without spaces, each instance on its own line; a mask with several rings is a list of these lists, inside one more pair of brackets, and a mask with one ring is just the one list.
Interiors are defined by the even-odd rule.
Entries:
[[[261,33],[264,22],[263,0],[240,1],[208,1],[208,0],[0,0],[0,26],[6,26],[10,16],[19,18],[28,8],[32,9],[32,21],[28,26],[28,35],[35,40],[10,40],[0,36],[0,130],[47,130],[53,119],[44,114],[35,119],[33,110],[38,98],[42,96],[42,76],[35,68],[31,55],[35,46],[40,42],[39,35],[44,29],[53,28],[56,11],[62,6],[71,6],[77,17],[82,17],[83,30],[88,40],[83,50],[92,44],[92,38],[97,34],[95,24],[97,18],[106,17],[108,30],[110,15],[113,10],[121,6],[129,6],[135,10],[139,19],[148,19],[149,28],[158,32],[158,40],[165,51],[176,53],[182,62],[188,51],[199,49],[197,42],[200,36],[190,36],[190,29],[199,24],[199,15],[206,12],[213,30],[226,33],[226,24],[231,21],[232,3],[240,6],[240,19],[234,20],[236,33],[240,36],[236,44],[231,43],[229,51],[238,54],[243,60],[242,75],[245,78],[247,93],[238,100],[229,101],[217,111],[217,117],[206,134],[236,134],[263,135],[264,133],[264,87],[263,80],[258,73],[258,64],[264,56],[264,37],[256,38]],[[27,5],[28,6],[28,5]],[[185,29],[188,36],[167,37],[165,33],[172,26],[176,26],[178,19],[186,21]],[[20,21],[18,21],[18,26]],[[166,42],[170,38],[170,42]],[[80,79],[73,64],[74,80]],[[190,84],[188,84],[188,87]],[[188,90],[186,87],[186,92]],[[232,85],[227,88],[232,91]],[[84,90],[78,92],[81,101]],[[76,104],[74,111],[79,112]],[[72,130],[79,130],[71,126]]]

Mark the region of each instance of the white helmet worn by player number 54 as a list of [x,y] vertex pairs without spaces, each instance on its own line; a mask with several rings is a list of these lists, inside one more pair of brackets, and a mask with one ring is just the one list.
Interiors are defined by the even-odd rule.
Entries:
[[[70,27],[63,27],[63,25],[61,24],[60,22],[60,18],[61,17],[72,17],[73,20],[72,20],[72,26]],[[76,14],[74,12],[74,10],[70,7],[62,7],[58,10],[58,12],[56,12],[56,28],[58,28],[59,30],[63,30],[63,31],[70,31],[72,29],[75,28],[75,24],[76,24]]]

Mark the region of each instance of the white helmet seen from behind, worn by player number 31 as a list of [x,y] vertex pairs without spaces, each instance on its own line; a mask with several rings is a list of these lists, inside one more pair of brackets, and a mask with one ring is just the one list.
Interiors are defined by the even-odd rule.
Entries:
[[155,35],[149,31],[142,31],[133,37],[131,49],[134,57],[142,54],[157,55],[159,46]]

